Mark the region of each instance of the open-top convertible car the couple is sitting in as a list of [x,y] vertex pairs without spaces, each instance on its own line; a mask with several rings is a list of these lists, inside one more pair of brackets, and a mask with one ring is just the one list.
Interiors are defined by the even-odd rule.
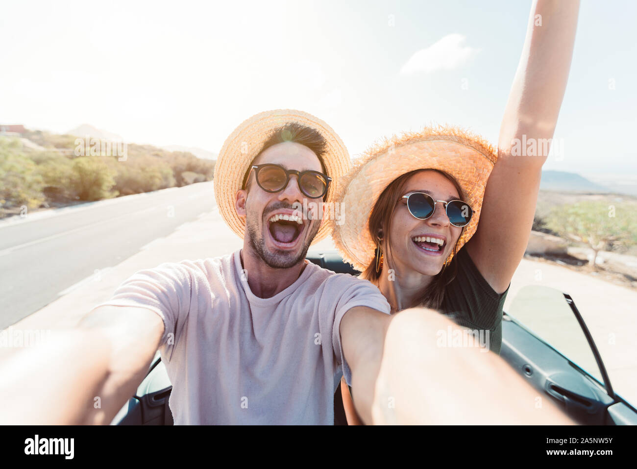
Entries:
[[[358,275],[336,250],[308,252],[308,260],[338,273]],[[549,287],[520,289],[502,323],[503,357],[542,398],[556,401],[581,424],[634,425],[637,410],[613,389],[598,349],[573,299]],[[172,425],[172,385],[159,352],[137,393],[111,425]],[[340,385],[334,393],[334,424],[347,424]]]

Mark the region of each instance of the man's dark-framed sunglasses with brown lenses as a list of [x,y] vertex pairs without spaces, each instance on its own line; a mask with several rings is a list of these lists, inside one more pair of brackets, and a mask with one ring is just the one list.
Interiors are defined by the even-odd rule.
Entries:
[[255,177],[257,178],[257,184],[266,192],[280,192],[287,187],[290,182],[290,175],[294,174],[297,177],[299,189],[306,197],[310,199],[318,199],[323,197],[327,193],[327,187],[332,181],[332,178],[319,173],[318,171],[296,171],[286,170],[278,164],[255,164],[248,171],[248,175],[245,178],[243,187],[248,182],[250,173],[255,171]]

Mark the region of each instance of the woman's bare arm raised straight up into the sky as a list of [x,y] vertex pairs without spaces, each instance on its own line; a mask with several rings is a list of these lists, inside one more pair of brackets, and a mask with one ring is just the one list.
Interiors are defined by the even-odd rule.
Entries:
[[478,229],[467,243],[471,259],[498,293],[508,287],[529,241],[548,154],[544,143],[553,137],[562,105],[578,10],[578,0],[536,0],[531,7],[500,127],[497,163],[487,182]]

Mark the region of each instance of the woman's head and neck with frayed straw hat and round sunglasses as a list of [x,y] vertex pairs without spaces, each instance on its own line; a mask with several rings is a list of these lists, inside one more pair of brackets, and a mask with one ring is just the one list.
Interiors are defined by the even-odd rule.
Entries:
[[334,243],[393,312],[443,307],[496,159],[480,136],[426,127],[372,147],[346,175],[337,198],[350,215]]

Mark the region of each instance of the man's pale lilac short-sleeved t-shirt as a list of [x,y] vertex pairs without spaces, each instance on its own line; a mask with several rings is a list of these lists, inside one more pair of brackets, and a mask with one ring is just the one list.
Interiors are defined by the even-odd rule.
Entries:
[[356,306],[389,314],[375,285],[305,261],[271,298],[250,291],[240,251],[163,263],[125,280],[101,305],[143,307],[164,321],[162,361],[175,424],[334,423],[339,328]]

